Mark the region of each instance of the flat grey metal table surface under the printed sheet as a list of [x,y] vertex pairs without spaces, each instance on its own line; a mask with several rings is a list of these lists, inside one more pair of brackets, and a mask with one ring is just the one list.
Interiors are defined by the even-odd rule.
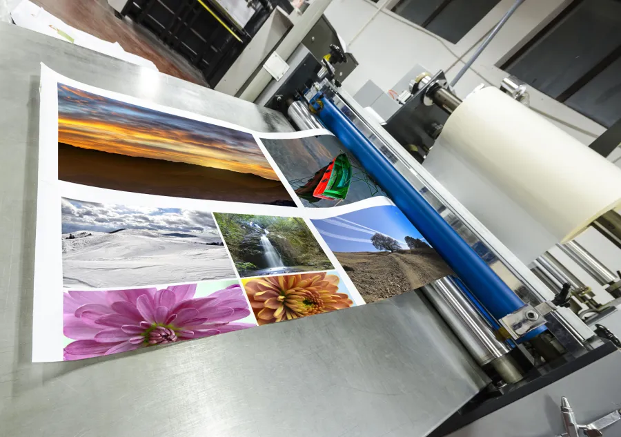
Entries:
[[0,435],[423,436],[484,384],[416,293],[156,350],[32,364],[39,62],[264,131],[279,113],[0,24]]

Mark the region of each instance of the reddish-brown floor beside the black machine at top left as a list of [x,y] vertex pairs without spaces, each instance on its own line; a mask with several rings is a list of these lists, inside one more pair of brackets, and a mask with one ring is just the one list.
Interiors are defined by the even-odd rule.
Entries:
[[115,17],[106,0],[31,0],[50,14],[97,38],[119,44],[127,52],[152,61],[160,72],[209,87],[201,72],[128,17]]

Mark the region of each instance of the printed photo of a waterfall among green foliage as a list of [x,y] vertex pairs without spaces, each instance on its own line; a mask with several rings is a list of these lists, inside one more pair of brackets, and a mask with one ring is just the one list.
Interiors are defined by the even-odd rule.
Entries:
[[214,213],[240,276],[333,269],[299,217]]

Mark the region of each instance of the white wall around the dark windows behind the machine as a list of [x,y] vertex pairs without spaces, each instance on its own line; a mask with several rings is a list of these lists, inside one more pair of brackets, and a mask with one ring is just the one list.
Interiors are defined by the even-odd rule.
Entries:
[[[453,79],[513,2],[500,1],[468,34],[453,44],[390,12],[395,0],[380,0],[377,4],[368,0],[333,0],[325,12],[326,17],[359,62],[356,70],[344,81],[344,88],[354,95],[371,79],[380,88],[388,90],[416,64],[431,73],[442,69],[449,80]],[[464,98],[482,83],[499,86],[508,74],[496,66],[509,59],[569,3],[571,0],[524,1],[457,83],[457,95]],[[604,132],[605,128],[600,124],[538,90],[529,87],[529,93],[533,110],[583,144],[590,144]],[[614,150],[609,159],[621,167],[621,148]],[[580,235],[577,241],[607,264],[609,269],[621,269],[618,249],[594,229]],[[551,249],[551,253],[591,286],[602,302],[609,300],[609,294],[564,253],[555,248]]]

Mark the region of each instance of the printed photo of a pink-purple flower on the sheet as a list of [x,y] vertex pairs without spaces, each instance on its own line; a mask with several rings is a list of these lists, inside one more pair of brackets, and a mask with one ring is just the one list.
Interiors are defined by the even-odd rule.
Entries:
[[63,293],[65,361],[254,326],[237,280]]

